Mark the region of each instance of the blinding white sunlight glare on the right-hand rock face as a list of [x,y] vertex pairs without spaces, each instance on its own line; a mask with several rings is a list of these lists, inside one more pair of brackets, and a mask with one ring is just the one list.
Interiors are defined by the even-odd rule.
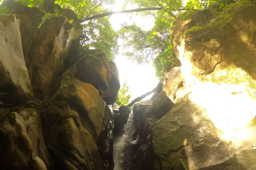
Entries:
[[[222,132],[218,136],[225,141],[232,141],[234,145],[239,145],[244,139],[251,139],[252,133],[249,124],[255,118],[256,100],[252,99],[247,90],[247,82],[239,84],[217,84],[214,82],[201,82],[191,75],[192,64],[189,57],[191,52],[186,52],[185,42],[181,41],[178,47],[179,59],[181,61],[181,72],[185,77],[187,88],[191,92],[189,98],[198,106],[205,108],[207,118],[209,118],[216,128]],[[226,72],[219,72],[225,75]],[[238,69],[234,74],[246,75],[242,69]],[[197,118],[194,117],[194,121]]]

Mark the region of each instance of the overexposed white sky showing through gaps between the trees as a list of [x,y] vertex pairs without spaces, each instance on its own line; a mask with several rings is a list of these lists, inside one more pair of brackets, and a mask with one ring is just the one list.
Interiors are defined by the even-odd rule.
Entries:
[[[111,11],[121,11],[122,4],[122,0],[116,1],[116,4],[111,6]],[[136,7],[131,6],[132,8]],[[130,18],[130,16],[129,14],[115,14],[110,16],[109,21],[116,31],[121,28],[123,22],[128,24],[134,22],[145,30],[151,29],[154,25],[154,18],[142,18],[138,15],[133,15]],[[122,56],[122,41],[119,40],[118,44],[121,45],[121,48],[119,48],[119,54],[115,58],[115,63],[118,67],[121,86],[124,80],[126,80],[133,98],[153,90],[159,80],[155,76],[155,68],[152,66],[152,63],[137,65],[135,62],[128,60],[126,56]],[[150,98],[150,96],[147,98]]]

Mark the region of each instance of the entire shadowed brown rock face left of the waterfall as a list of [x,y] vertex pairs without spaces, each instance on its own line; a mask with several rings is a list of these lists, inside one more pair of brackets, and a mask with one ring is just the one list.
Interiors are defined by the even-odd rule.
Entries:
[[118,70],[65,16],[6,2],[0,16],[1,169],[114,169]]

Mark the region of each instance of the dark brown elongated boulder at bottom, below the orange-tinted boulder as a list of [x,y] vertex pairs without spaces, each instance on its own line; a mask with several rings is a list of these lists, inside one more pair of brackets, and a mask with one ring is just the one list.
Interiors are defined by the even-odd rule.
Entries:
[[53,167],[62,169],[103,169],[102,159],[82,118],[66,101],[52,101],[43,117],[47,147]]

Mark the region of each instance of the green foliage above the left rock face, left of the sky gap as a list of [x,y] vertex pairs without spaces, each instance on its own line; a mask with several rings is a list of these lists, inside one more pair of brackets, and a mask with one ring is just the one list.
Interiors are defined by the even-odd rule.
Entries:
[[[29,7],[39,7],[41,11],[44,11],[43,3],[52,0],[17,0]],[[103,5],[110,5],[115,3],[115,0],[56,0],[53,1],[59,4],[62,8],[70,9],[75,12],[78,20],[90,17],[95,14],[101,14],[108,12]],[[1,10],[1,8],[0,8]],[[44,11],[45,12],[45,11]],[[55,7],[54,13],[45,12],[45,16],[42,18],[40,25],[52,16],[62,15],[60,10]],[[108,56],[108,60],[113,61],[115,55],[118,52],[117,45],[117,32],[111,27],[108,21],[109,18],[100,18],[83,23],[83,33],[79,37],[81,44],[93,49],[101,49]]]

